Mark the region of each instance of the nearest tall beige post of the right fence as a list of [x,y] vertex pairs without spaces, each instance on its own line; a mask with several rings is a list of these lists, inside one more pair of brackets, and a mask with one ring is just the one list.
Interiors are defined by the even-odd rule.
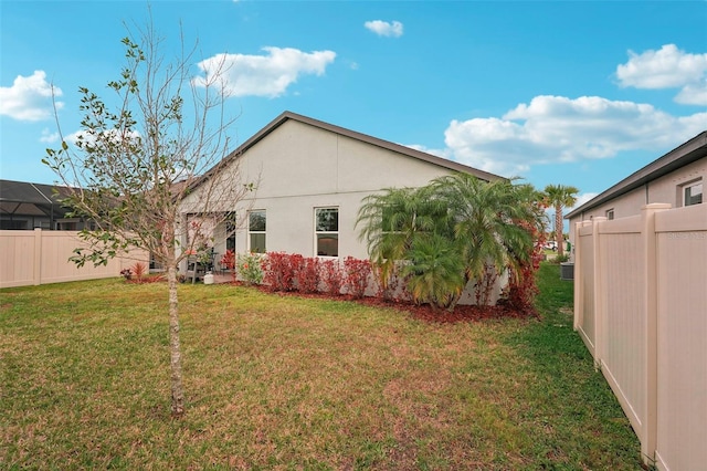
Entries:
[[655,462],[655,451],[657,448],[657,362],[658,362],[658,338],[657,338],[657,253],[655,234],[655,213],[671,209],[669,203],[651,203],[641,208],[641,238],[643,244],[643,260],[645,270],[643,271],[643,295],[645,296],[645,439],[641,442],[641,454],[646,464]]

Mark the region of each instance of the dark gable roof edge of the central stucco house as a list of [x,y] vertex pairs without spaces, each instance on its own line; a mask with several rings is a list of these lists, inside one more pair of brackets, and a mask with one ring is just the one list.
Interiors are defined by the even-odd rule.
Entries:
[[391,143],[389,140],[383,140],[383,139],[379,139],[378,137],[373,137],[373,136],[369,136],[367,134],[362,134],[362,133],[358,133],[356,130],[351,130],[351,129],[347,129],[340,126],[336,126],[329,123],[325,123],[323,121],[318,121],[318,119],[314,119],[307,116],[303,116],[303,115],[298,115],[296,113],[292,113],[292,112],[284,112],[282,113],[279,116],[277,116],[275,119],[273,119],[272,122],[270,122],[265,127],[263,127],[261,130],[258,130],[257,133],[255,133],[250,139],[247,139],[245,143],[243,143],[241,146],[239,146],[238,149],[233,150],[231,154],[229,154],[225,157],[226,163],[221,163],[218,164],[215,167],[211,168],[209,171],[207,171],[207,174],[204,174],[203,178],[200,179],[199,181],[196,182],[194,186],[199,186],[200,181],[203,181],[203,179],[209,178],[213,171],[215,171],[215,169],[218,168],[223,168],[224,164],[228,165],[228,163],[230,163],[231,160],[236,159],[240,155],[244,154],[249,148],[253,147],[255,144],[257,144],[258,142],[261,142],[262,139],[264,139],[267,135],[270,135],[273,130],[277,129],[281,125],[283,125],[285,122],[287,121],[296,121],[298,123],[304,123],[307,124],[309,126],[314,126],[317,127],[319,129],[325,129],[341,136],[346,136],[349,137],[351,139],[357,139],[377,147],[381,147],[383,149],[388,149],[388,150],[392,150],[394,153],[398,154],[402,154],[405,155],[408,157],[412,157],[419,160],[423,160],[426,161],[429,164],[433,164],[443,168],[447,168],[450,170],[455,170],[455,171],[462,171],[465,174],[472,174],[478,178],[481,178],[482,180],[485,181],[493,181],[493,180],[500,180],[500,179],[505,179],[502,176],[498,175],[494,175],[484,170],[479,170],[477,168],[474,167],[469,167],[467,165],[464,164],[460,164],[453,160],[447,160],[445,158],[442,157],[437,157],[434,156],[432,154],[428,154],[428,153],[423,153],[421,150],[415,150],[411,147],[405,147],[402,146],[400,144],[394,144]]

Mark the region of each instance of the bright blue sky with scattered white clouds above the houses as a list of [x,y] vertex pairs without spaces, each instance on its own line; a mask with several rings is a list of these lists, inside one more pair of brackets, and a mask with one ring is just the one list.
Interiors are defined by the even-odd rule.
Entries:
[[[243,143],[292,111],[581,201],[707,129],[707,1],[152,1],[226,57]],[[0,1],[0,178],[51,184],[80,86],[108,95],[141,1]],[[226,54],[226,55],[221,55]]]

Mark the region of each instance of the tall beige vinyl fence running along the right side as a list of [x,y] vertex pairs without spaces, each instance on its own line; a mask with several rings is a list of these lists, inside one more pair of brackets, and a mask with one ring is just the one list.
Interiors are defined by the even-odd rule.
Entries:
[[574,328],[646,463],[707,469],[707,205],[576,228]]

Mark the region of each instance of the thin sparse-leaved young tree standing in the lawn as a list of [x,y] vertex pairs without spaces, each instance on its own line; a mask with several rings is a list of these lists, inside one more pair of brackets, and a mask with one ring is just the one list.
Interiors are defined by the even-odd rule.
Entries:
[[[182,38],[180,55],[166,61],[151,23],[137,34],[128,29],[123,44],[126,64],[108,83],[110,102],[81,87],[81,130],[62,134],[61,148],[48,149],[43,161],[70,188],[64,203],[73,217],[91,221],[81,234],[87,248],[74,251],[75,263],[105,264],[144,249],[166,269],[171,412],[181,416],[178,268],[231,218],[254,182],[241,179],[229,155],[225,132],[235,118],[225,117],[222,71],[197,83],[190,76],[196,48],[186,52]],[[57,126],[61,133],[59,118]]]

